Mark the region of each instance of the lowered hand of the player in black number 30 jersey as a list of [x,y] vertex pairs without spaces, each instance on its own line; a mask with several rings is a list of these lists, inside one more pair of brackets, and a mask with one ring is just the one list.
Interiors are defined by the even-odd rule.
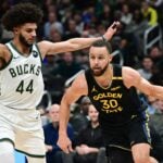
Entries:
[[63,150],[65,153],[73,152],[72,141],[67,137],[67,135],[60,135],[58,140],[58,146]]

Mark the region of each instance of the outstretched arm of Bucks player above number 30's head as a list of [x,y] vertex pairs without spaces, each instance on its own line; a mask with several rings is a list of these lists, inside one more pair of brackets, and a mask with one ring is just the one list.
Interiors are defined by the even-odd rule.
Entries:
[[40,41],[38,47],[41,51],[42,57],[46,54],[57,54],[66,51],[75,51],[90,47],[91,43],[98,39],[110,40],[120,27],[120,22],[114,22],[101,37],[95,38],[73,38],[61,42]]

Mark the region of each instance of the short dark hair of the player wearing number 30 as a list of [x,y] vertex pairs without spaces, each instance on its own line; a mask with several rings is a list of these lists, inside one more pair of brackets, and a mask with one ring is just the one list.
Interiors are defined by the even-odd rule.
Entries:
[[91,47],[105,47],[109,53],[112,53],[112,47],[109,41],[104,41],[102,39],[99,39],[95,41]]

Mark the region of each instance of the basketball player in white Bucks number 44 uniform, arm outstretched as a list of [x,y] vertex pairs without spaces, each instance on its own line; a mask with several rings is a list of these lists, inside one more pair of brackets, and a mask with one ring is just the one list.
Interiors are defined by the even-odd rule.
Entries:
[[111,37],[114,22],[103,37],[74,38],[63,42],[36,43],[36,29],[42,12],[30,3],[11,8],[2,17],[13,40],[0,45],[0,162],[14,163],[14,148],[28,163],[45,163],[43,133],[36,111],[43,92],[41,60],[48,55],[89,47]]

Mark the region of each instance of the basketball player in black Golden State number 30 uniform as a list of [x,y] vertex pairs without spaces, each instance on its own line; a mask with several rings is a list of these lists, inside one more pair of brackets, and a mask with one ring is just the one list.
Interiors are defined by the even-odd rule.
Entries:
[[90,70],[79,74],[62,98],[58,145],[65,152],[72,151],[66,135],[70,105],[79,97],[88,96],[99,111],[105,146],[121,149],[121,152],[113,150],[108,153],[110,163],[128,163],[129,151],[133,153],[129,163],[155,163],[149,155],[151,138],[146,105],[139,100],[136,89],[163,99],[163,87],[151,85],[137,71],[111,64],[111,61],[110,43],[103,40],[93,42],[89,50]]

